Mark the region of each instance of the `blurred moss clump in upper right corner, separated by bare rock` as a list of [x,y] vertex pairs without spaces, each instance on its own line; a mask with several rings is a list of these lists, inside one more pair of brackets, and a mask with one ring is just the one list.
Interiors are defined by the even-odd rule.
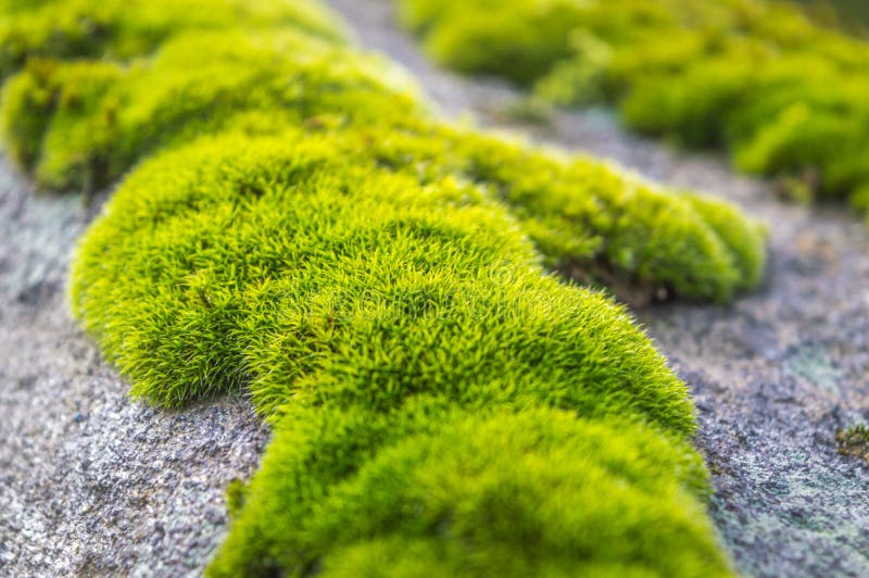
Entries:
[[[869,183],[869,43],[781,2],[401,0],[441,62],[726,147],[744,171],[846,197]],[[514,63],[519,65],[514,66]],[[527,64],[527,65],[526,65]],[[834,87],[831,89],[830,87]]]

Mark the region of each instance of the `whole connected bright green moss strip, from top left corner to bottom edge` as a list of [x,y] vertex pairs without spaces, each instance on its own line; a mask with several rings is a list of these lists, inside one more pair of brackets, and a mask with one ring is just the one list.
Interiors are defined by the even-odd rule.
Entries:
[[275,425],[212,574],[729,574],[684,384],[547,267],[726,301],[760,228],[440,124],[318,4],[201,4],[0,0],[0,74],[43,186],[125,175],[71,301],[134,394]]

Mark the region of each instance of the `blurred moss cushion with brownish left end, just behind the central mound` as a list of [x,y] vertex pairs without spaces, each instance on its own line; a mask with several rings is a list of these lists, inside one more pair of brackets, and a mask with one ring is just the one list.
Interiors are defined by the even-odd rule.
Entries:
[[180,34],[131,64],[30,61],[2,102],[13,159],[53,189],[105,186],[156,148],[229,127],[389,125],[423,114],[394,66],[292,28]]

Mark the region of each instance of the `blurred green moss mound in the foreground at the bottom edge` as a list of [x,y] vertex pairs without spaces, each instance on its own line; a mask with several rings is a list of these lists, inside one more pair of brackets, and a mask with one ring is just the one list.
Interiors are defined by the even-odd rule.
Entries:
[[678,441],[567,412],[290,412],[209,574],[725,576],[705,476]]

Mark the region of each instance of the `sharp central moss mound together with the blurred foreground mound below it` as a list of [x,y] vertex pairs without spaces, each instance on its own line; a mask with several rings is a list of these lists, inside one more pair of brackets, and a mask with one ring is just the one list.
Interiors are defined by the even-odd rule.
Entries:
[[624,311],[544,276],[481,189],[337,152],[164,153],[74,263],[137,394],[247,385],[278,428],[212,574],[727,575],[684,386]]

